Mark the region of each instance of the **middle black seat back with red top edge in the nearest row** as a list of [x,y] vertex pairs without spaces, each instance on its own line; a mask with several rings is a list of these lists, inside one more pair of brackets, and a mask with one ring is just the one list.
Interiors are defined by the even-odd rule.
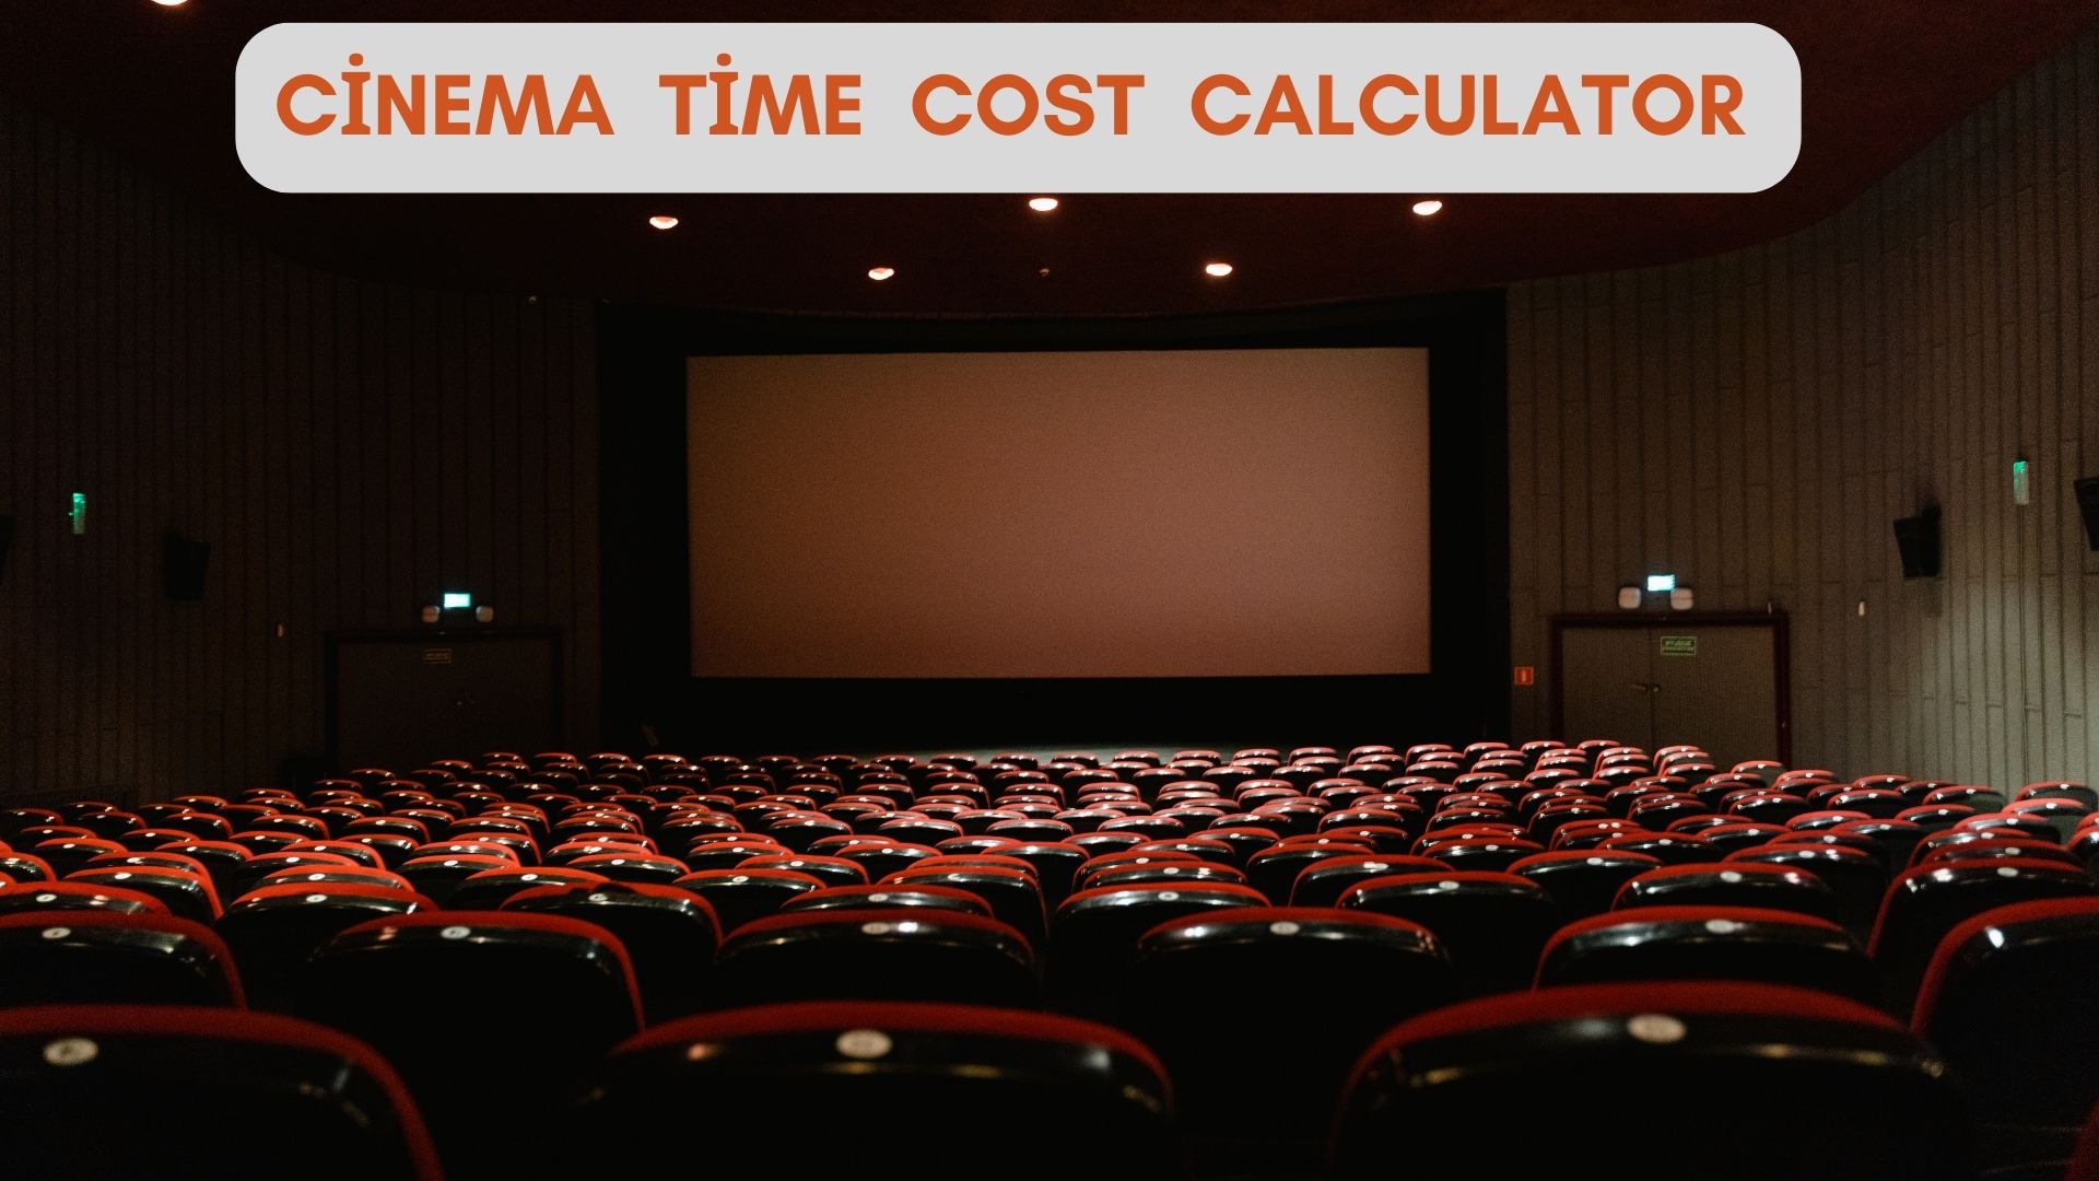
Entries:
[[[1169,1175],[1178,1168],[1165,1068],[1119,1030],[1014,1009],[808,1002],[686,1017],[615,1049],[584,1091],[581,1145],[640,1160],[691,1149],[693,1114],[716,1170],[861,1173],[858,1135],[825,1122],[936,1120],[936,1154],[905,1175]],[[1016,1139],[1016,1114],[1054,1120]]]

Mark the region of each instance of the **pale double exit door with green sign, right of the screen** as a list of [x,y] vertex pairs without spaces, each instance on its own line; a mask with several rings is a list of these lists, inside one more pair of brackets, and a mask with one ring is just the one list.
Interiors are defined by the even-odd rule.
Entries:
[[1566,742],[1677,742],[1744,759],[1793,761],[1786,721],[1786,618],[1560,616],[1553,719]]

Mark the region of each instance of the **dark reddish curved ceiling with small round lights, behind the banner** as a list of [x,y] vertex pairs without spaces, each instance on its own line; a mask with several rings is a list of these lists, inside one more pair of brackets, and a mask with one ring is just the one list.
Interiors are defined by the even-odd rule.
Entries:
[[[1665,263],[1841,208],[2099,0],[0,0],[0,90],[332,271],[445,288],[823,313],[1165,313]],[[233,153],[233,63],[277,21],[1759,21],[1803,74],[1801,158],[1751,195],[283,195]],[[646,227],[653,212],[682,219]],[[1230,258],[1224,282],[1199,267]],[[873,284],[869,265],[896,277]],[[1039,271],[1047,267],[1050,275]]]

